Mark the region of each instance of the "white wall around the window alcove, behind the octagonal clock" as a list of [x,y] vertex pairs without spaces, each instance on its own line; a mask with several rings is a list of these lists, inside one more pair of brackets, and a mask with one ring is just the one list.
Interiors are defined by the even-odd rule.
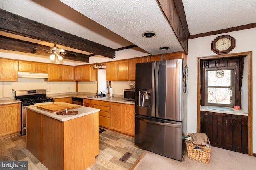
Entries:
[[[256,53],[256,28],[234,31],[188,40],[188,133],[196,133],[197,117],[197,57],[216,55],[211,51],[211,42],[220,35],[230,35],[236,39],[236,47],[230,53],[253,51]],[[252,57],[252,65],[256,60]],[[256,75],[256,69],[252,70]],[[256,92],[256,77],[253,77],[253,92]],[[253,106],[256,106],[256,95],[253,95]],[[256,109],[253,109],[255,115]],[[256,116],[253,116],[253,152],[256,153]]]

